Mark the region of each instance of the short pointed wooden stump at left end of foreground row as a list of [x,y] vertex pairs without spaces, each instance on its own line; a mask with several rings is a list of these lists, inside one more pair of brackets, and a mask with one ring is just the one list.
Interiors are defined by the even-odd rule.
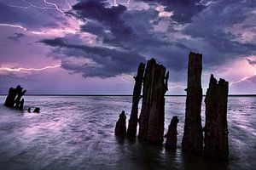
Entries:
[[125,134],[126,134],[125,111],[122,111],[122,113],[119,115],[119,120],[118,122],[116,122],[116,125],[114,128],[114,134],[119,137],[125,137]]

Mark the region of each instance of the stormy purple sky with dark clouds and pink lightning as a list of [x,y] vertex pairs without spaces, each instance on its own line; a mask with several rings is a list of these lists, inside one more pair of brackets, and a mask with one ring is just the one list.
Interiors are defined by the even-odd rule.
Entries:
[[137,66],[185,94],[190,51],[230,94],[256,94],[256,0],[0,0],[0,94],[132,94]]

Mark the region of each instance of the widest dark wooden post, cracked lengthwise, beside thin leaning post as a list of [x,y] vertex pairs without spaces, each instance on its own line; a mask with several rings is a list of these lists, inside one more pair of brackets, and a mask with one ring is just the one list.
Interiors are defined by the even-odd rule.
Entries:
[[155,59],[148,60],[143,81],[143,105],[139,117],[138,139],[162,144],[165,122],[165,94],[169,73]]

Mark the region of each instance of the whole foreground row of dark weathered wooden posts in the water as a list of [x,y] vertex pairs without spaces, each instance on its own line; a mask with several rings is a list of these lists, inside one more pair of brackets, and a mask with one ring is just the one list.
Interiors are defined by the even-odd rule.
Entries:
[[[202,155],[214,160],[228,160],[229,141],[227,125],[227,102],[229,83],[224,79],[217,81],[213,75],[207,89],[206,124],[201,125],[201,72],[202,55],[190,52],[188,85],[182,150],[186,153]],[[133,89],[132,108],[126,131],[125,112],[119,115],[115,134],[120,137],[138,138],[148,144],[162,144],[164,141],[165,94],[168,90],[169,72],[155,59],[148,60],[147,66],[141,63]],[[141,95],[143,87],[143,95]],[[141,114],[138,118],[139,100],[143,99]],[[166,133],[166,149],[176,150],[177,116],[172,117]],[[139,131],[137,136],[137,123]]]

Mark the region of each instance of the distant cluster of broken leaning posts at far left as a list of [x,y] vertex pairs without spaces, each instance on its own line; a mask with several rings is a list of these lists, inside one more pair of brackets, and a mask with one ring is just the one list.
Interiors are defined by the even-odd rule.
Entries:
[[23,110],[24,99],[22,96],[26,93],[26,90],[17,86],[16,88],[9,88],[9,94],[5,99],[4,105],[7,107],[15,107],[16,109]]

